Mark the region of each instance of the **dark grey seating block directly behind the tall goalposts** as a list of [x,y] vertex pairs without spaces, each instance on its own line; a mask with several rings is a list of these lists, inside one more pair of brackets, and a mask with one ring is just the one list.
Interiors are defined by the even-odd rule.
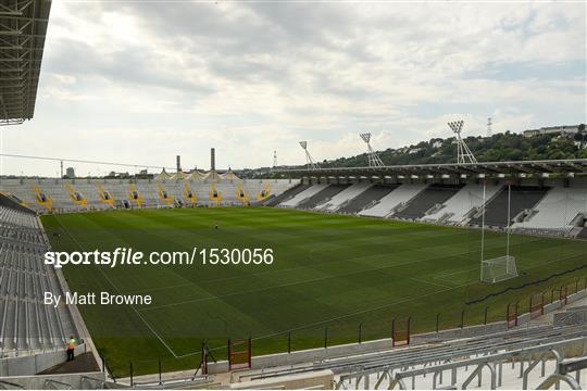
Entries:
[[[523,219],[524,215],[545,197],[548,187],[537,186],[512,186],[511,187],[511,204],[510,204],[510,217],[511,223],[515,223],[519,219]],[[508,187],[498,192],[491,200],[485,205],[485,225],[489,227],[507,227],[508,222],[508,200],[510,199]],[[475,215],[470,220],[471,225],[480,226],[483,224],[483,216]]]

